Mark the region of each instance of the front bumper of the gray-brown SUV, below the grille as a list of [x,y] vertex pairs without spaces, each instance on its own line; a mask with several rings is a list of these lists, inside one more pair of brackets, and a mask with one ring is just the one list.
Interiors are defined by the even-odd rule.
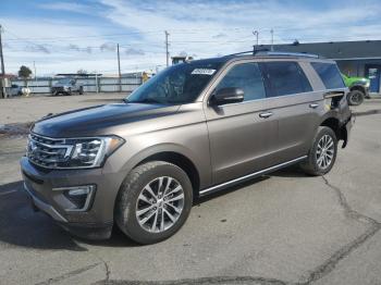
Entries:
[[[90,239],[110,237],[114,201],[123,174],[105,174],[101,169],[41,171],[25,157],[21,160],[21,169],[24,188],[37,209],[74,235]],[[96,185],[97,190],[86,211],[67,210],[70,201],[63,191],[53,190],[87,184]]]

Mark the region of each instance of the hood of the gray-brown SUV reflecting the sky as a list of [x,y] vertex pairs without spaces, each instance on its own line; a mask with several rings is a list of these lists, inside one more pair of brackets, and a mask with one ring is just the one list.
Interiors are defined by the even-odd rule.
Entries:
[[113,126],[169,115],[179,108],[145,103],[95,106],[44,117],[36,122],[32,132],[48,137],[110,135],[108,132]]

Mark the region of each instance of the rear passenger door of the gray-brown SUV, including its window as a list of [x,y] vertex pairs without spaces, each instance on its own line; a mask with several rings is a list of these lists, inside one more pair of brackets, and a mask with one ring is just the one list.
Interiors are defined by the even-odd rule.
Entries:
[[323,110],[321,91],[314,91],[297,61],[261,63],[268,86],[268,110],[278,121],[276,163],[307,154]]

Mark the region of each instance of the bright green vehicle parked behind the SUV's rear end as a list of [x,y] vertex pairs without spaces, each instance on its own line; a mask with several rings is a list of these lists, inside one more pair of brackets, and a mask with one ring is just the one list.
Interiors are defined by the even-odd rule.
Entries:
[[342,74],[345,86],[349,88],[347,100],[351,106],[359,106],[369,98],[370,80],[365,77],[354,77]]

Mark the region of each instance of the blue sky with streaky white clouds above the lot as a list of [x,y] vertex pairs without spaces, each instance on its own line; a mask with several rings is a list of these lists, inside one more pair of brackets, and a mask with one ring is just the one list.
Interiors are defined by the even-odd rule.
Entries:
[[37,76],[78,70],[118,74],[163,69],[170,55],[195,59],[259,44],[381,39],[380,0],[1,0],[4,65]]

